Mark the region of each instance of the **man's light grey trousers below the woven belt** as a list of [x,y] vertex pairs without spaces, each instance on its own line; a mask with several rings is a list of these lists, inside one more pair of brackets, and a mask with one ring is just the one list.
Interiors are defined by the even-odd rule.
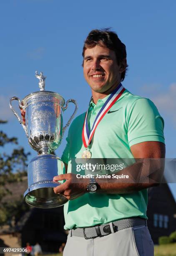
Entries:
[[107,236],[67,238],[63,256],[153,256],[154,247],[147,226],[125,228]]

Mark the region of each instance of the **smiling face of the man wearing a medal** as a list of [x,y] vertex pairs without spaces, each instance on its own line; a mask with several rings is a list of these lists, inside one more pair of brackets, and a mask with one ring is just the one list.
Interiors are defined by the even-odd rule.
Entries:
[[83,72],[91,89],[103,93],[118,85],[123,70],[117,64],[113,50],[96,45],[84,52]]

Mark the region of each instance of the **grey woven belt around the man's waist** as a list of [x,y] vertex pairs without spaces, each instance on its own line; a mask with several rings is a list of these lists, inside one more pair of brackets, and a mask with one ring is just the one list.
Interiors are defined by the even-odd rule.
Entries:
[[101,236],[107,236],[124,228],[131,228],[140,225],[147,226],[147,220],[138,217],[127,218],[122,220],[116,220],[106,224],[96,225],[93,227],[71,229],[69,230],[69,234],[70,236],[78,236],[84,237],[85,239],[91,239]]

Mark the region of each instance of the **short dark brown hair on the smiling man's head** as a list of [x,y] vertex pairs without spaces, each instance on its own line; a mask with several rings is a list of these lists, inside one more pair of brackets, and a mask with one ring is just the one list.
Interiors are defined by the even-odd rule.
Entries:
[[[125,44],[123,44],[118,38],[118,35],[115,32],[110,31],[109,28],[103,28],[101,30],[94,29],[88,34],[83,46],[83,57],[87,48],[93,48],[96,45],[106,46],[108,49],[113,50],[116,54],[118,65],[126,59]],[[126,69],[121,73],[121,81],[125,78],[127,67],[128,64],[126,64]]]

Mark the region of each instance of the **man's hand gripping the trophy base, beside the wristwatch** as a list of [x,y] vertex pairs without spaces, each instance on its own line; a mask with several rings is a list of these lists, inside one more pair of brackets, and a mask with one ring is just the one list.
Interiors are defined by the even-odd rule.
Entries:
[[53,182],[58,182],[64,179],[66,179],[66,181],[63,184],[54,188],[55,194],[61,194],[67,197],[68,200],[73,200],[88,192],[88,179],[78,179],[76,174],[67,173],[55,176]]

